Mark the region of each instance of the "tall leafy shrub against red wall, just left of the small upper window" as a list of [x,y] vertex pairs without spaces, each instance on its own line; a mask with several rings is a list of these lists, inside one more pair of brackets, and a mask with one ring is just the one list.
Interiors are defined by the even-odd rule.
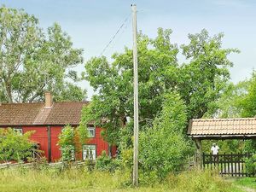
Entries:
[[86,139],[87,129],[84,126],[79,125],[77,128],[73,128],[71,125],[64,126],[58,142],[61,147],[61,160],[75,160],[75,155],[82,150]]

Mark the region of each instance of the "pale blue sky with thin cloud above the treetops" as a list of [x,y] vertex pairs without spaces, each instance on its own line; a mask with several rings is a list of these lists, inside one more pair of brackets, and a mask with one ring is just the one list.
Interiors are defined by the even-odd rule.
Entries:
[[[157,28],[172,29],[172,43],[189,42],[188,34],[201,32],[210,35],[224,32],[223,47],[240,49],[229,56],[234,62],[231,80],[237,83],[250,78],[256,65],[256,1],[254,0],[0,0],[0,5],[25,9],[35,15],[46,29],[57,22],[72,38],[75,48],[84,49],[84,61],[101,55],[121,24],[125,25],[104,51],[109,59],[114,52],[131,48],[131,3],[137,4],[137,26],[148,37],[156,36]],[[125,21],[125,19],[128,20]],[[124,22],[125,21],[125,22]],[[182,59],[181,59],[182,60]],[[84,64],[76,67],[84,71]],[[79,83],[93,94],[88,82]]]

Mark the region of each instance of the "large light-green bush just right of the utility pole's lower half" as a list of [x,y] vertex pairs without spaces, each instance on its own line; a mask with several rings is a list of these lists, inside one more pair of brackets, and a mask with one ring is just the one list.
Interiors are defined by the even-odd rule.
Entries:
[[153,126],[140,135],[139,158],[143,172],[163,179],[169,172],[180,170],[189,149],[182,134],[186,123],[186,108],[180,96],[166,95]]

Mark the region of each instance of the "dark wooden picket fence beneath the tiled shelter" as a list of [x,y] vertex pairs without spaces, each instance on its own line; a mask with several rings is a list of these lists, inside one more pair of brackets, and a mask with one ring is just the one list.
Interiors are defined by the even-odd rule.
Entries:
[[232,177],[249,177],[246,171],[245,159],[251,154],[203,154],[203,167],[218,168],[220,175]]

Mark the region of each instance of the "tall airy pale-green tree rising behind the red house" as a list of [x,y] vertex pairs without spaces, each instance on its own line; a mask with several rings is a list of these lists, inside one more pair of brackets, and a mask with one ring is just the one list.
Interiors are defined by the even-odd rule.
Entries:
[[[53,95],[64,93],[58,99],[84,98],[84,90],[72,84],[79,78],[71,70],[82,63],[82,52],[73,48],[71,38],[58,24],[44,33],[35,16],[26,14],[23,9],[1,7],[1,102],[42,101],[45,90]],[[79,91],[73,94],[68,91],[70,88]]]

